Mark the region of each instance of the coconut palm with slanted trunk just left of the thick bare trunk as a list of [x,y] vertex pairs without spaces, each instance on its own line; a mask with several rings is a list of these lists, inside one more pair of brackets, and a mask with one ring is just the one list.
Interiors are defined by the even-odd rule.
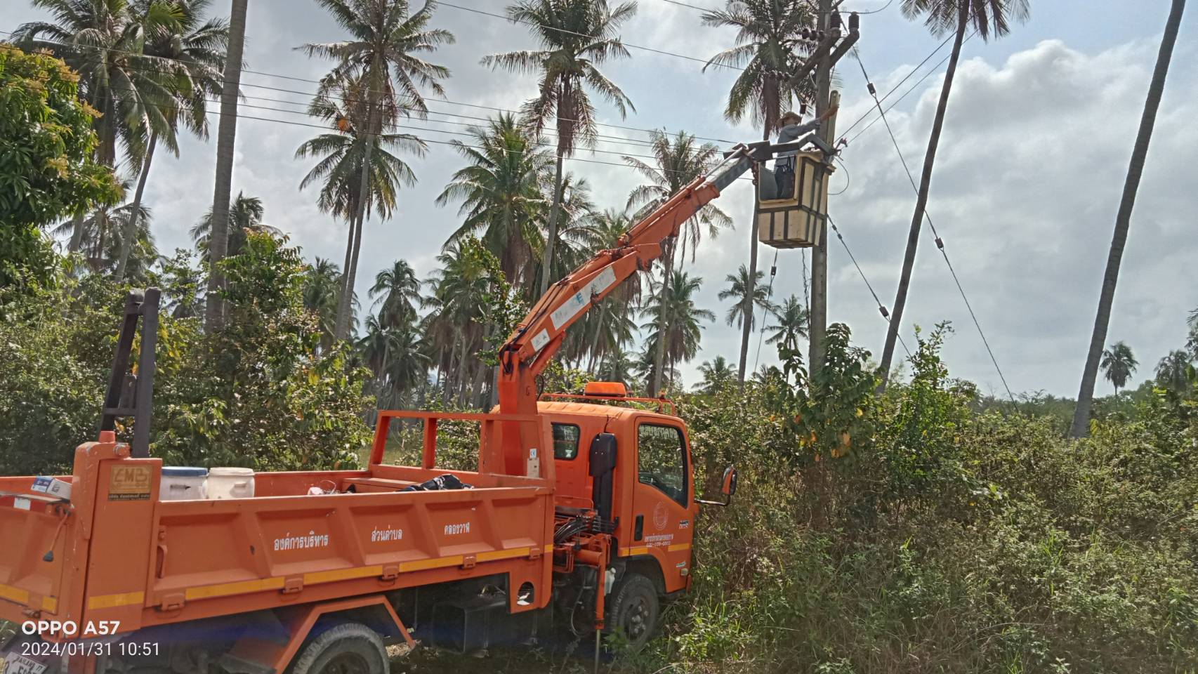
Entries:
[[[208,97],[220,93],[220,81],[224,71],[224,54],[229,47],[229,29],[222,19],[204,20],[211,0],[181,0],[169,11],[173,20],[155,20],[155,14],[163,12],[163,4],[157,0],[134,0],[133,16],[145,26],[144,53],[156,56],[168,63],[163,73],[170,78],[170,101],[158,102],[163,115],[170,122],[169,133],[162,136],[167,148],[179,156],[179,126],[187,127],[198,138],[207,139]],[[158,146],[159,132],[155,128],[139,127],[133,129],[140,141],[149,132],[150,138],[139,147],[141,170],[138,188],[133,196],[134,217],[129,220],[129,231],[137,230],[137,212],[145,194],[146,181],[150,177],[150,164]],[[138,142],[137,145],[143,145]],[[122,242],[133,241],[132,236]],[[125,278],[125,266],[129,247],[122,247],[116,265],[116,280]]]

